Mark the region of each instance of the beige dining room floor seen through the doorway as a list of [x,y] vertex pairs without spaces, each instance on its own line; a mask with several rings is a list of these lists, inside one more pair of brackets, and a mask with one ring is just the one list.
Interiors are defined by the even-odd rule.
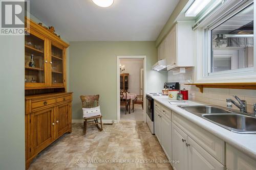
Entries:
[[125,114],[125,106],[120,107],[120,121],[121,122],[144,122],[143,110],[141,105],[134,105],[134,112],[131,105],[131,114],[129,111]]

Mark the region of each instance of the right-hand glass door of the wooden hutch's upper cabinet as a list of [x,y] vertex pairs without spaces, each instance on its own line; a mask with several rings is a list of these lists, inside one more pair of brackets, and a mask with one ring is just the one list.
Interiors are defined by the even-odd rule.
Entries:
[[54,43],[51,45],[51,85],[62,87],[63,82],[63,60],[64,60],[63,49],[57,47]]

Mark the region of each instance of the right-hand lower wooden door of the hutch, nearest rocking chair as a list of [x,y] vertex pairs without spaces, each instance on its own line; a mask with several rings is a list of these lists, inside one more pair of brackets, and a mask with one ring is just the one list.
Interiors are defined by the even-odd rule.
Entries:
[[69,130],[70,103],[56,106],[56,136],[57,138]]

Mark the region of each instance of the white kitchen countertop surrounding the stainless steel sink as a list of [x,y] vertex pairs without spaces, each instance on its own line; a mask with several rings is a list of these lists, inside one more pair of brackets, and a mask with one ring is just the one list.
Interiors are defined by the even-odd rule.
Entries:
[[[161,103],[162,105],[164,105],[165,107],[175,111],[176,113],[180,114],[181,116],[185,117],[186,119],[205,129],[206,131],[212,133],[213,135],[229,143],[230,145],[242,151],[243,153],[246,153],[247,155],[256,159],[256,134],[238,134],[231,132],[214,123],[209,122],[206,119],[203,119],[193,113],[189,113],[179,108],[178,105],[169,104],[167,96],[161,98],[159,98],[159,96],[152,96],[152,98],[157,102]],[[198,103],[195,101],[187,101],[187,104],[204,105],[202,103]]]

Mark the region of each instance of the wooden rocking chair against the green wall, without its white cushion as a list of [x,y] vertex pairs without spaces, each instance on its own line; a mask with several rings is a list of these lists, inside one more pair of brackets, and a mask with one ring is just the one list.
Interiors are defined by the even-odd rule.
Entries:
[[[99,94],[97,95],[81,95],[80,96],[81,102],[82,102],[82,108],[95,108],[99,106]],[[96,116],[86,116],[83,115],[84,121],[83,121],[83,134],[86,134],[87,126],[89,125],[96,125],[96,127],[102,131],[102,115],[99,113],[99,115]],[[98,118],[100,119],[100,123],[98,122]],[[100,125],[100,127],[99,127]]]

